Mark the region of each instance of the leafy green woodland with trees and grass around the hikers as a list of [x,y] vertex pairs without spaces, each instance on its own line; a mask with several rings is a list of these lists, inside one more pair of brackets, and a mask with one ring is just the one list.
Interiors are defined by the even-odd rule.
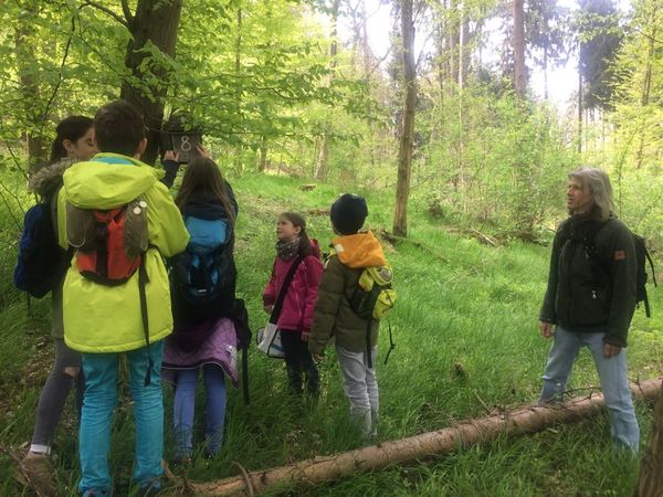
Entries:
[[[373,53],[368,29],[378,3],[391,11],[386,55]],[[141,110],[150,138],[145,160],[156,167],[158,134],[173,112],[190,113],[202,127],[243,209],[239,288],[255,325],[281,210],[307,212],[324,245],[332,236],[324,209],[355,191],[369,199],[369,228],[401,236],[390,252],[402,278],[393,317],[401,357],[394,352],[378,373],[385,440],[481,415],[475,395],[491,406],[536,398],[548,347],[535,330],[549,251],[539,245],[565,215],[570,169],[607,169],[618,214],[654,252],[663,247],[656,0],[7,0],[0,39],[3,445],[29,438],[25,420],[51,353],[48,303],[25,316],[24,298],[11,287],[22,213],[34,202],[25,178],[46,160],[60,119],[92,116],[110,99]],[[564,105],[550,102],[558,89],[550,83],[540,96],[532,86],[534,73],[546,82],[559,66],[576,67],[564,82],[575,88]],[[302,184],[316,187],[302,192]],[[656,315],[635,318],[634,378],[661,371],[661,322]],[[424,346],[435,352],[421,361]],[[295,408],[274,408],[283,372],[261,359],[253,359],[252,389],[274,382],[271,393],[250,415],[234,398],[228,454],[212,466],[201,462],[193,476],[225,476],[235,459],[255,469],[356,446],[343,436],[341,410],[325,406],[345,405],[333,358],[324,370],[329,390],[304,421]],[[589,359],[576,381],[596,381]],[[640,405],[639,414],[646,435],[651,411]],[[118,440],[130,433],[127,416],[119,416]],[[274,432],[263,430],[267,420],[281,420]],[[608,455],[606,423],[497,441],[432,465],[306,491],[628,495],[638,465]],[[60,447],[70,489],[74,432],[63,429]],[[128,488],[124,459],[131,450],[124,444],[115,457],[119,485]],[[614,464],[624,474],[611,474]],[[1,472],[3,493],[21,491],[10,469]]]

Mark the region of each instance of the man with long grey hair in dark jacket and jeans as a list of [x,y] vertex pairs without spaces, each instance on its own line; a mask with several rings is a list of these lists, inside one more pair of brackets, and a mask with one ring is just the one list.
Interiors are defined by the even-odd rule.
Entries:
[[552,337],[539,404],[564,398],[573,361],[580,347],[587,347],[601,381],[613,443],[638,452],[640,430],[625,351],[635,309],[635,246],[612,207],[606,172],[579,168],[569,173],[569,218],[555,234],[539,315],[541,336]]

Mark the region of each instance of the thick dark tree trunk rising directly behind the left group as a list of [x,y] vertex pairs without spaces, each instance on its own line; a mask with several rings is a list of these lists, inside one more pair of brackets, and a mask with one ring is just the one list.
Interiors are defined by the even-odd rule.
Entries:
[[[168,67],[156,65],[155,62],[148,67],[141,67],[145,59],[150,57],[143,49],[152,43],[160,52],[175,57],[175,45],[177,43],[177,30],[180,22],[180,12],[183,0],[139,0],[136,14],[127,19],[127,25],[131,39],[127,45],[125,65],[130,71],[131,77],[122,84],[120,98],[133,104],[145,119],[147,131],[147,149],[143,155],[143,161],[154,163],[159,154],[159,137],[164,121],[164,101],[168,89]],[[125,13],[129,9],[123,0]],[[157,76],[159,85],[147,88],[135,85],[134,81],[146,81],[145,72]]]

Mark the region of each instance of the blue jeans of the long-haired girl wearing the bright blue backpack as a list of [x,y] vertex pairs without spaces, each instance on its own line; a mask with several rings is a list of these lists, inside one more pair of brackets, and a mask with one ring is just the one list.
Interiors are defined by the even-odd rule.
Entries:
[[[191,457],[193,452],[193,419],[196,413],[196,388],[198,371],[182,369],[177,372],[175,388],[172,429],[177,442],[177,457]],[[225,382],[223,370],[217,364],[202,367],[202,380],[207,396],[207,448],[209,454],[215,454],[223,442],[223,423],[225,420]]]

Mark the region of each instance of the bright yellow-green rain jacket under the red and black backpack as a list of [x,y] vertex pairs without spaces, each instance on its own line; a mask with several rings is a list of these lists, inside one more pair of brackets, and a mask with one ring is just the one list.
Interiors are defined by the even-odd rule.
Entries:
[[[189,234],[162,175],[136,159],[97,154],[64,173],[60,190],[57,226],[60,244],[66,242],[65,202],[82,209],[115,209],[140,197],[147,202],[148,248],[145,260],[149,341],[172,331],[170,288],[161,256],[182,252]],[[156,248],[155,248],[156,247]],[[119,286],[94,283],[78,273],[72,258],[63,289],[64,341],[81,352],[123,352],[145,347],[140,317],[138,272]]]

